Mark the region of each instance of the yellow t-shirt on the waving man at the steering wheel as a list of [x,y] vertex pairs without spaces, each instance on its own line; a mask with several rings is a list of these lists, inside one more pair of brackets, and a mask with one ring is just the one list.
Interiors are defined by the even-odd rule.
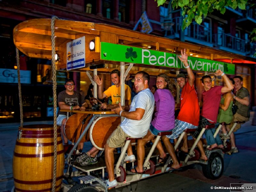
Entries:
[[[125,100],[129,101],[129,105],[131,104],[131,88],[124,84],[124,92],[125,92]],[[108,87],[106,91],[104,91],[107,97],[111,96],[112,105],[118,104],[121,102],[121,86],[116,87],[116,85],[112,85]]]

